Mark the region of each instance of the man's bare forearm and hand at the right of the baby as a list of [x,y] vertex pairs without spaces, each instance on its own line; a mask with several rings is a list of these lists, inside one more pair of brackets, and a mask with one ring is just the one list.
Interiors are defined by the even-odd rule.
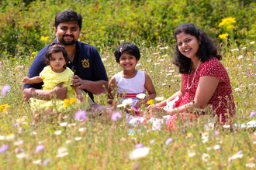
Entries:
[[73,76],[74,80],[72,81],[73,86],[78,86],[80,89],[88,90],[88,92],[94,94],[102,94],[106,93],[108,89],[108,81],[98,80],[98,81],[90,81],[90,80],[81,80],[81,78],[77,75]]

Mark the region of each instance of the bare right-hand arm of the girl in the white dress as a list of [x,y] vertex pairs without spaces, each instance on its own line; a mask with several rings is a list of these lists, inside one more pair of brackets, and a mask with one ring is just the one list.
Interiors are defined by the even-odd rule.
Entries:
[[154,84],[147,73],[145,73],[145,89],[147,90],[148,97],[144,98],[143,102],[144,104],[147,104],[148,100],[154,100],[154,98],[157,96],[157,92],[154,89]]

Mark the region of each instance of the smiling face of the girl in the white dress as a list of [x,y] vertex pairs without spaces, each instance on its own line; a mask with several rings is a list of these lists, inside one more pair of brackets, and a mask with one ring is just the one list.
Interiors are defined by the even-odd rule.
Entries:
[[123,70],[135,70],[139,59],[128,53],[122,53],[119,59],[119,66],[122,66]]

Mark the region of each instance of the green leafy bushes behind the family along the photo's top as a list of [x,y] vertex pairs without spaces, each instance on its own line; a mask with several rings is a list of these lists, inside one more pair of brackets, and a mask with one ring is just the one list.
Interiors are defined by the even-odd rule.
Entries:
[[[237,45],[251,42],[256,32],[254,0],[13,0],[0,2],[0,51],[16,56],[38,51],[53,41],[54,16],[72,9],[83,16],[80,40],[96,46],[116,45],[119,40],[150,42],[147,46],[173,41],[173,32],[192,22],[217,39],[227,32],[221,19],[234,17]],[[41,36],[49,36],[42,42]],[[161,38],[159,38],[161,37]]]

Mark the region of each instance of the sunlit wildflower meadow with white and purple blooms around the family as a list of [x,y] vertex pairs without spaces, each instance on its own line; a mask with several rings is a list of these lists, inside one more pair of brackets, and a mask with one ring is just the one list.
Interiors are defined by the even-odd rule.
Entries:
[[[238,19],[230,19],[230,15],[223,19],[226,20],[216,22],[219,34],[213,39],[223,55],[221,63],[233,88],[237,110],[233,121],[238,126],[232,128],[209,127],[213,115],[200,117],[186,128],[178,122],[179,128],[171,132],[164,126],[160,131],[152,131],[150,124],[129,127],[123,118],[79,122],[74,120],[74,113],[64,117],[61,124],[40,121],[34,125],[32,110],[22,100],[21,80],[39,48],[28,47],[18,37],[20,42],[13,47],[14,53],[7,45],[15,40],[2,39],[1,45],[5,44],[1,46],[0,89],[9,85],[10,90],[0,95],[0,169],[254,169],[256,133],[254,128],[239,125],[255,119],[256,43],[253,36],[236,38],[238,28],[231,27],[236,26],[232,21]],[[40,46],[54,39],[52,33],[47,38],[47,33],[35,35],[40,39]],[[113,52],[120,42],[127,40],[131,41],[116,38],[109,46],[90,40],[99,50],[109,78],[121,70]],[[157,97],[170,97],[180,86],[180,75],[171,57],[175,42],[141,36],[136,41],[141,53],[137,69],[150,75]],[[106,105],[106,94],[95,96],[95,101]],[[124,114],[123,110],[119,112]]]

